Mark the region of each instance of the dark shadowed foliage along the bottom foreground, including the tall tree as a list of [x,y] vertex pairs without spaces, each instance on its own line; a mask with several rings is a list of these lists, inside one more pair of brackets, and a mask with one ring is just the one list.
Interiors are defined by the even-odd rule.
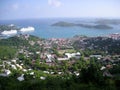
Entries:
[[[0,90],[119,90],[120,80],[103,77],[100,63],[91,59],[89,65],[81,61],[85,67],[81,68],[80,76],[75,75],[48,75],[45,80],[25,75],[25,81],[19,82],[16,73],[10,77],[0,77]],[[54,67],[55,68],[55,67]],[[42,73],[39,72],[39,75]],[[39,76],[38,76],[39,77]],[[4,81],[4,82],[3,82]]]

